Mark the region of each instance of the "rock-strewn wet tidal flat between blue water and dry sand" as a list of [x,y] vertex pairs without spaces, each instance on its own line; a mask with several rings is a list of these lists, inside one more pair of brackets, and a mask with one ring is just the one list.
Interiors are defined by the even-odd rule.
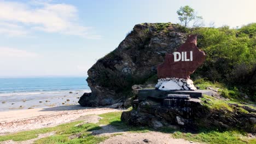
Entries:
[[85,92],[90,90],[1,96],[0,112],[77,105]]

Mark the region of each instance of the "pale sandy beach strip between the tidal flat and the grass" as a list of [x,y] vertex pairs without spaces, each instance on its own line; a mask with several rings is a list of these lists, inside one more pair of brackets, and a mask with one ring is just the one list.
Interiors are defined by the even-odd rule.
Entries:
[[0,112],[0,135],[21,130],[32,130],[74,121],[80,116],[100,115],[121,111],[110,108],[86,108],[79,105],[50,107],[45,109]]

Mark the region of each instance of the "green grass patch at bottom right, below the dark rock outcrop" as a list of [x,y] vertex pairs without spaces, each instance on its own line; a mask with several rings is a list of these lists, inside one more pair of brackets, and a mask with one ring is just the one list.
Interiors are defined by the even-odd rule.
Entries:
[[244,133],[240,131],[201,131],[197,134],[182,133],[177,131],[172,135],[176,139],[185,139],[189,141],[205,143],[253,143],[254,140],[246,139]]

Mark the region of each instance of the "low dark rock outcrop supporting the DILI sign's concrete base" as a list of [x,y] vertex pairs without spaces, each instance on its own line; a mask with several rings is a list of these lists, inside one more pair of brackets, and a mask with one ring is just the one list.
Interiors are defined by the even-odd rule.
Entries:
[[[143,90],[141,90],[143,91]],[[167,95],[166,95],[167,97]],[[140,95],[138,95],[138,99]],[[135,126],[152,128],[179,125],[181,128],[197,130],[197,128],[218,128],[220,130],[237,128],[248,132],[256,132],[256,114],[253,108],[245,105],[230,104],[233,111],[226,109],[210,109],[205,102],[197,98],[186,99],[158,99],[146,97],[136,100],[133,110],[125,111],[121,120]],[[249,113],[236,111],[246,107]]]

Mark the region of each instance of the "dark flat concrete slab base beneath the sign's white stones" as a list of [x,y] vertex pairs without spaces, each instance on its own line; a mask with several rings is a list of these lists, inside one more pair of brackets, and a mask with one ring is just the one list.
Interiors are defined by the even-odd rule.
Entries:
[[168,94],[185,94],[190,95],[191,98],[202,97],[203,94],[212,95],[211,90],[197,89],[195,91],[161,91],[159,89],[141,89],[138,91],[138,100],[146,100],[147,98],[165,99]]

